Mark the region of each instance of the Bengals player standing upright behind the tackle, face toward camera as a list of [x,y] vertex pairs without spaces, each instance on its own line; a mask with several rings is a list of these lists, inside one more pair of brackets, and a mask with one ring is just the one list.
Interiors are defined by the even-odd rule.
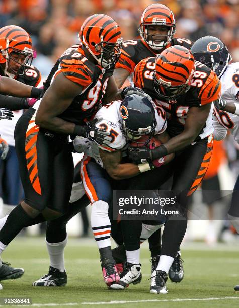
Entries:
[[[147,6],[142,13],[139,26],[141,39],[124,41],[119,61],[116,63],[114,77],[118,87],[121,87],[130,76],[132,79],[135,66],[143,59],[155,57],[170,46],[182,45],[188,49],[192,42],[186,38],[174,38],[176,24],[173,12],[165,5],[155,3]],[[160,230],[149,239],[152,271],[155,269],[160,256]],[[183,265],[178,255],[171,267],[169,277],[172,282],[183,279]],[[181,272],[182,275],[177,273]]]

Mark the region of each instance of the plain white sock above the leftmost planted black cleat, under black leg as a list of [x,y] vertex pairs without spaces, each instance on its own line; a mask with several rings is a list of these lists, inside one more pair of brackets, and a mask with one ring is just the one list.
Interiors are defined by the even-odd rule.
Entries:
[[59,243],[48,243],[46,241],[47,250],[50,256],[50,266],[57,268],[60,272],[65,271],[64,248],[66,243],[67,236],[64,241]]

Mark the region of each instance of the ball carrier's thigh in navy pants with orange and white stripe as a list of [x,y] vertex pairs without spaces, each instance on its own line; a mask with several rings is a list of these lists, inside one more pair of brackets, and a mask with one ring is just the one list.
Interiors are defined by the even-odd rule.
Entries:
[[102,200],[109,203],[112,199],[112,188],[105,169],[90,157],[81,162],[81,178],[86,194],[91,201]]

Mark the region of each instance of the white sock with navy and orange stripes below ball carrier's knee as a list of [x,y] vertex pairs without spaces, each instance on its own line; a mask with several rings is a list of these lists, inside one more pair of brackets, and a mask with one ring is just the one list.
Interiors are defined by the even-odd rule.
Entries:
[[108,203],[102,200],[92,204],[91,226],[99,249],[111,245],[111,223],[108,216],[108,209]]

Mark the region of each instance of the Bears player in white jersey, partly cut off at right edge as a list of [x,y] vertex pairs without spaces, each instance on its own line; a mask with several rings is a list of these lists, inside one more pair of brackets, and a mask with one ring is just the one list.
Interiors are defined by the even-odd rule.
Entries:
[[[198,39],[191,49],[197,61],[207,65],[221,81],[221,98],[214,102],[214,136],[217,140],[225,138],[230,130],[235,141],[239,141],[239,62],[230,63],[231,55],[225,44],[214,36]],[[239,176],[236,180],[228,218],[239,233],[238,210]],[[239,285],[235,286],[239,291]]]

